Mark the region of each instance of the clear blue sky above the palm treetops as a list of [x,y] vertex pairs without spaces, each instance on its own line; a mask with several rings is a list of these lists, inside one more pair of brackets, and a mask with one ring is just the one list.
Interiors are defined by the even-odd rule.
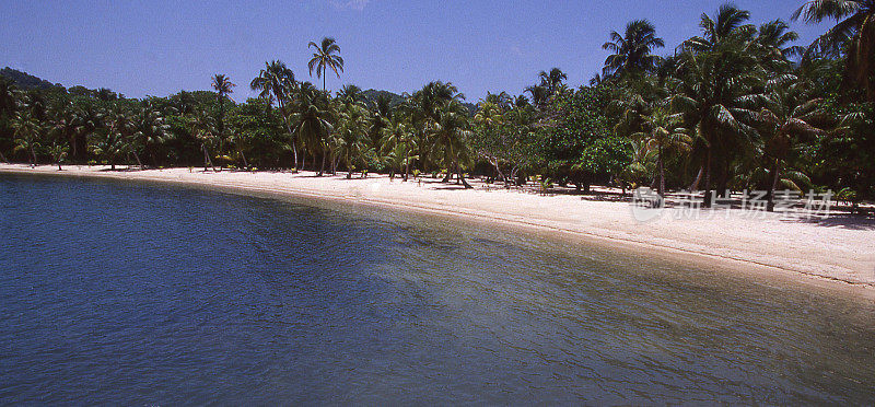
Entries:
[[[127,96],[209,89],[213,73],[237,84],[237,101],[266,60],[308,80],[310,40],[334,36],[342,83],[401,93],[432,80],[476,102],[487,91],[517,94],[540,70],[560,67],[571,85],[600,71],[611,30],[649,19],[669,53],[699,33],[719,0],[580,1],[38,1],[0,0],[0,67],[66,86]],[[752,22],[790,20],[802,0],[738,0]],[[792,23],[808,44],[826,28]],[[317,83],[316,79],[312,79]]]

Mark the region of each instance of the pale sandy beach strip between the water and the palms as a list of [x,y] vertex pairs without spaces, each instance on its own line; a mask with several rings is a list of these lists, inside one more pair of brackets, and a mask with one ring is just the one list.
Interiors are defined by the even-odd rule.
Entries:
[[677,209],[669,209],[662,218],[641,223],[623,201],[540,196],[476,181],[474,189],[465,190],[438,179],[402,183],[398,178],[392,182],[386,175],[346,179],[342,173],[316,177],[312,173],[213,173],[198,168],[110,172],[98,166],[66,166],[59,172],[52,165],[31,168],[23,164],[0,164],[0,173],[161,181],[376,205],[585,236],[684,257],[689,263],[714,259],[795,276],[801,281],[841,282],[875,291],[875,221],[871,219],[837,216],[807,220],[772,213],[751,217],[740,210],[719,210],[707,219],[676,219],[673,211]]

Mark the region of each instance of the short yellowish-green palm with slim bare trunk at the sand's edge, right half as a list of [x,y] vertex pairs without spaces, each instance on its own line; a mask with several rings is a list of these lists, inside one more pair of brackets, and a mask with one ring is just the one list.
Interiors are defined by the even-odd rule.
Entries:
[[648,130],[633,136],[642,139],[645,146],[656,152],[656,171],[658,172],[660,196],[665,196],[665,153],[667,151],[688,151],[692,138],[681,127],[680,115],[672,115],[665,108],[656,108],[644,118]]

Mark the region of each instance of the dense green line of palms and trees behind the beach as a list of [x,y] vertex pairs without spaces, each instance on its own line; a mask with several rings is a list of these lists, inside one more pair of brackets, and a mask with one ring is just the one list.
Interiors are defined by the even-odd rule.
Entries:
[[755,26],[725,4],[668,57],[656,55],[656,28],[633,21],[609,34],[611,55],[588,86],[569,88],[553,68],[523,94],[488,94],[476,112],[450,82],[394,100],[355,85],[328,92],[326,75],[343,72],[332,38],[310,44],[322,89],[270,61],[248,83],[259,97],[240,104],[222,74],[213,91],[143,100],[3,80],[0,160],[872,198],[874,15],[873,0],[808,1],[791,18],[836,25],[803,47],[786,22]]

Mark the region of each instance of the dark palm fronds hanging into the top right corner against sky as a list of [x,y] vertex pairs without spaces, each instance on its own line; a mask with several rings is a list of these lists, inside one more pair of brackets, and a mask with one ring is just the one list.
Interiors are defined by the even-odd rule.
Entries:
[[875,0],[810,0],[793,13],[794,21],[800,16],[807,23],[837,21],[809,50],[829,56],[844,51],[845,84],[865,90],[875,102]]

